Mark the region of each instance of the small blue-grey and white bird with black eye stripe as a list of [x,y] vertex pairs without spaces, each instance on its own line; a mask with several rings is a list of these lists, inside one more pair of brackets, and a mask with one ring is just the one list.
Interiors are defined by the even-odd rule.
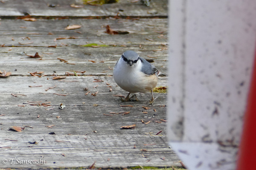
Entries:
[[[125,51],[113,68],[113,78],[117,85],[128,95],[125,102],[132,101],[131,93],[147,93],[151,91],[151,100],[148,105],[153,105],[153,88],[157,86],[158,76],[162,74],[154,65],[140,57],[135,51]],[[136,95],[135,95],[136,96]]]

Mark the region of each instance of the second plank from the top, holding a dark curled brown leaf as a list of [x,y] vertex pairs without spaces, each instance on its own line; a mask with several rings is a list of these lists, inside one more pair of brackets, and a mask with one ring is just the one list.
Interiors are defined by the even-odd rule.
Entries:
[[[76,30],[64,30],[67,25],[78,24]],[[129,34],[110,35],[105,26]],[[21,27],[21,28],[20,28]],[[79,33],[77,33],[77,31]],[[49,35],[49,32],[53,35]],[[140,20],[1,20],[0,45],[4,46],[76,46],[97,43],[99,45],[161,45],[167,44],[166,19]],[[56,40],[58,38],[67,38]],[[103,42],[103,43],[102,43]]]

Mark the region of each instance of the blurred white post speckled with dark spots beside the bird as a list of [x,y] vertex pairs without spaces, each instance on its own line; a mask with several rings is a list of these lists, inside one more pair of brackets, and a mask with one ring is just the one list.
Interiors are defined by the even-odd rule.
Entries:
[[233,170],[256,1],[169,0],[168,140],[189,170]]

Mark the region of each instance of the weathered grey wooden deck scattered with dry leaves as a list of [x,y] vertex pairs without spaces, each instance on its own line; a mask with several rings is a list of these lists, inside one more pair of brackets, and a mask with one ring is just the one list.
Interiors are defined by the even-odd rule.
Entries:
[[[0,1],[0,70],[12,72],[0,78],[0,168],[88,168],[94,162],[103,169],[181,166],[166,140],[167,95],[155,93],[159,98],[148,110],[143,106],[150,94],[137,94],[139,101],[126,103],[113,96],[127,94],[111,70],[126,50],[153,59],[167,72],[167,2],[147,7],[121,0],[72,8],[79,1]],[[37,21],[21,20],[24,14]],[[64,29],[73,24],[81,28]],[[129,34],[106,34],[107,25]],[[90,43],[106,46],[82,46]],[[36,52],[41,58],[25,55]],[[41,71],[37,75],[45,76],[30,74]],[[72,76],[74,71],[85,72]],[[157,86],[167,86],[167,78],[160,77]],[[64,109],[58,108],[61,103]],[[17,132],[12,126],[25,128]],[[29,160],[42,162],[22,162]]]

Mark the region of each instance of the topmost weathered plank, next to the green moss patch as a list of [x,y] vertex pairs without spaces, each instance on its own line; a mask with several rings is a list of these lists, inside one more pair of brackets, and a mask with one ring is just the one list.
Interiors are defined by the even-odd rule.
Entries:
[[[77,0],[12,0],[0,4],[0,16],[23,16],[24,13],[32,16],[57,17],[84,17],[84,16],[167,16],[167,0],[151,1],[150,7],[142,5],[140,1],[131,3],[130,0],[120,0],[119,3],[103,6],[84,5],[83,8],[72,8],[71,4],[82,4]],[[55,7],[49,7],[49,5]],[[121,10],[120,10],[121,9]]]

